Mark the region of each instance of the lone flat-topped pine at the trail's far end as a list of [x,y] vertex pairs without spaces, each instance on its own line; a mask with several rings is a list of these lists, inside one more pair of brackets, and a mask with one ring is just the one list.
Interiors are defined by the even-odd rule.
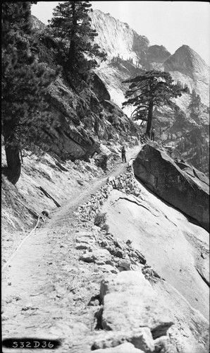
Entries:
[[171,98],[185,92],[178,88],[178,85],[173,85],[170,73],[163,71],[146,71],[123,83],[130,83],[129,89],[125,92],[127,101],[123,102],[123,107],[127,105],[135,107],[132,116],[135,120],[147,121],[148,136],[152,127],[154,107],[160,107],[163,104],[174,107],[175,104]]

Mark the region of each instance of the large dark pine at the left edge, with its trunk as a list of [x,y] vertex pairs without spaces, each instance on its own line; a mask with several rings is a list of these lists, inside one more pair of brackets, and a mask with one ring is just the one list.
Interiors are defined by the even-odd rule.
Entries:
[[30,6],[28,1],[2,4],[1,124],[13,184],[20,177],[20,150],[43,145],[43,130],[51,124],[45,97],[56,77],[30,50]]

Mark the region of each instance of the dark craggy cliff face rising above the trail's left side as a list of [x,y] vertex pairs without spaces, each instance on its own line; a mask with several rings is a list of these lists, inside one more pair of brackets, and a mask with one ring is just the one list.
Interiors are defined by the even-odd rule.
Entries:
[[[37,59],[45,66],[56,68],[58,59],[54,49],[58,44],[47,35],[39,35],[44,27],[32,16],[32,28],[39,42]],[[92,73],[88,82],[79,77],[67,79],[61,73],[48,90],[54,118],[54,124],[46,131],[49,150],[63,160],[89,160],[101,153],[101,143],[106,144],[110,139],[123,143],[130,140],[130,136],[137,136],[137,126],[116,104],[109,104],[110,99],[97,73]]]

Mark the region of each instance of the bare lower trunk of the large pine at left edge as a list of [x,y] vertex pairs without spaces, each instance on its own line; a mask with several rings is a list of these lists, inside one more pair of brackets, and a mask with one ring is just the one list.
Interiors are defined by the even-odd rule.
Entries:
[[18,148],[18,143],[14,134],[5,137],[5,152],[6,152],[6,162],[8,170],[6,172],[8,180],[12,184],[16,184],[20,178],[21,163],[20,163],[20,153]]

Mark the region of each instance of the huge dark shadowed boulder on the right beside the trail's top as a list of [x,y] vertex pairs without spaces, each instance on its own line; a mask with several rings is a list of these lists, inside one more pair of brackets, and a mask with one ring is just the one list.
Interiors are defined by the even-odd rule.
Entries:
[[186,165],[186,172],[164,150],[145,145],[133,164],[135,176],[150,190],[209,231],[209,179]]

